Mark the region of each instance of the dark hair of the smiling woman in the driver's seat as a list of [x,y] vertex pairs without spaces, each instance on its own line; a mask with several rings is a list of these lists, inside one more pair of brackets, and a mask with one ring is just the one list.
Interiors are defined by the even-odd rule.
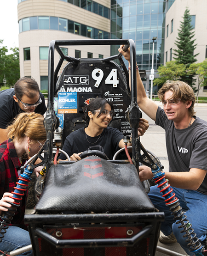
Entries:
[[90,99],[89,105],[87,105],[83,108],[83,113],[84,113],[83,119],[86,121],[87,126],[88,126],[89,121],[90,121],[90,117],[88,116],[88,112],[91,111],[92,113],[95,113],[95,110],[100,109],[100,112],[98,114],[98,116],[100,116],[102,111],[105,109],[106,104],[109,104],[110,107],[111,107],[111,110],[114,111],[114,106],[110,101],[108,101],[106,99],[103,99],[103,98],[92,98],[92,99]]

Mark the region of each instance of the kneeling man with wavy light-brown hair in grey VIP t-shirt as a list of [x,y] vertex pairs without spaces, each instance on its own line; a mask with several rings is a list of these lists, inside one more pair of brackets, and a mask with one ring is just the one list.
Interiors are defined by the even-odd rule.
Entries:
[[[119,52],[129,61],[130,50]],[[130,70],[129,70],[130,72]],[[185,215],[192,224],[197,238],[205,241],[207,233],[207,122],[195,116],[196,97],[190,85],[181,81],[167,81],[158,91],[163,109],[147,97],[144,85],[137,68],[138,106],[157,125],[166,131],[166,146],[169,160],[169,172],[165,172],[167,180],[173,187]],[[139,167],[141,181],[153,177],[147,166]],[[189,247],[183,238],[184,233],[175,223],[175,219],[157,186],[153,186],[148,194],[157,209],[165,212],[165,221],[160,237],[162,243],[175,243],[176,238],[188,255]],[[174,233],[174,235],[173,235]]]

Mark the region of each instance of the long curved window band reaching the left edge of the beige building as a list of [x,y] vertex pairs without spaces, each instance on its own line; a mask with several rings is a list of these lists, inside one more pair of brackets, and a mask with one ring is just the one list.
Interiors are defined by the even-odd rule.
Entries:
[[109,39],[109,33],[66,18],[35,16],[19,20],[19,33],[28,30],[61,30],[92,39]]

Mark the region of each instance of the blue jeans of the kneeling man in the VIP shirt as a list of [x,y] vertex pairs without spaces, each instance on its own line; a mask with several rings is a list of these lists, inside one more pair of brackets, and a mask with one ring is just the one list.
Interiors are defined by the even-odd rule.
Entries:
[[[192,224],[197,238],[202,242],[206,238],[207,234],[207,195],[203,195],[194,190],[186,189],[177,189],[172,187],[175,196],[179,199],[180,206],[186,212],[184,215],[187,216],[187,219]],[[173,219],[174,216],[171,215],[171,211],[165,205],[164,198],[162,193],[157,186],[150,188],[150,193],[148,194],[150,200],[160,212],[165,213],[165,221],[161,223],[161,232],[164,235],[168,236],[172,232],[174,233],[178,243],[181,247],[187,252],[188,255],[194,255],[190,253],[188,243],[185,242],[187,238],[183,238],[183,235],[186,234],[180,233],[181,229],[178,229],[178,226],[181,224],[176,224]]]

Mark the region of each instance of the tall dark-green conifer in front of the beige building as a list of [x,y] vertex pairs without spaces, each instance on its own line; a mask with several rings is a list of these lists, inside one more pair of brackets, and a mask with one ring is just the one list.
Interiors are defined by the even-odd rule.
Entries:
[[[186,69],[190,67],[190,64],[196,62],[196,55],[194,55],[194,50],[196,49],[195,41],[196,39],[193,39],[195,36],[195,31],[193,31],[193,26],[191,25],[191,16],[190,16],[190,10],[187,8],[184,12],[183,21],[180,22],[180,29],[178,29],[178,37],[175,41],[175,44],[178,49],[173,49],[174,55],[176,57],[173,57],[174,60],[176,60],[180,64],[184,64],[186,66]],[[193,87],[195,84],[195,79],[193,79],[195,74],[188,75],[186,74],[182,76],[181,80],[188,83],[193,89],[194,92],[196,92],[196,87]]]

